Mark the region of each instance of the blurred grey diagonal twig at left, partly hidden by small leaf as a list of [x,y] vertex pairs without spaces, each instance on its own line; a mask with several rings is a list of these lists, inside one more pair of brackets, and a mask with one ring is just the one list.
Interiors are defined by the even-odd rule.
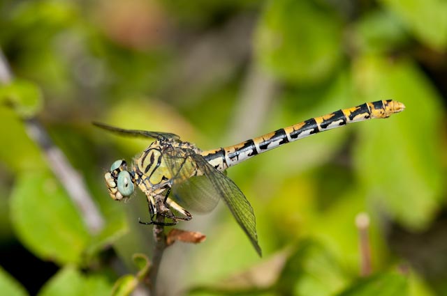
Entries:
[[[13,79],[8,62],[0,49],[0,83],[8,84]],[[73,169],[64,153],[54,145],[45,128],[36,118],[22,118],[26,125],[28,136],[41,147],[47,163],[54,176],[59,179],[68,196],[78,207],[85,225],[91,234],[96,234],[103,228],[104,220],[96,204],[91,198],[84,180],[80,174]]]

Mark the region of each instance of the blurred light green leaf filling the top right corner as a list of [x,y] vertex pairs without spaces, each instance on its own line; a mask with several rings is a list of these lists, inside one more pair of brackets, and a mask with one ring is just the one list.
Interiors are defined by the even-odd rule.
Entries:
[[444,0],[381,0],[402,18],[421,42],[434,49],[447,46],[447,2]]

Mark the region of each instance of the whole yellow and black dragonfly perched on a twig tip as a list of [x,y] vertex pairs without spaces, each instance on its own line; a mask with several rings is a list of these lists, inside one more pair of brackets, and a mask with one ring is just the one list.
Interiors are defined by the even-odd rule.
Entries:
[[[140,223],[173,226],[179,221],[191,220],[193,215],[189,210],[210,212],[222,200],[261,256],[254,210],[235,182],[226,176],[226,169],[312,134],[348,123],[388,118],[404,108],[404,104],[395,100],[368,102],[212,150],[200,150],[193,143],[182,141],[177,134],[169,132],[125,130],[104,123],[93,124],[124,136],[154,140],[133,159],[130,167],[124,159],[119,159],[104,175],[108,193],[115,201],[128,200],[135,187],[145,194],[150,221],[138,220]],[[163,219],[156,219],[158,215]]]

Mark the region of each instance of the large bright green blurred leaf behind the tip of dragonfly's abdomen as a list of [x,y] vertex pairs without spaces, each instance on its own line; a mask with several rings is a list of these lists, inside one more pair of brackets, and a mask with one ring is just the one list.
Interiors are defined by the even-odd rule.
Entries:
[[365,57],[354,71],[367,100],[393,98],[406,105],[402,114],[359,126],[354,153],[358,176],[369,197],[390,215],[423,228],[445,192],[439,162],[440,98],[409,62]]

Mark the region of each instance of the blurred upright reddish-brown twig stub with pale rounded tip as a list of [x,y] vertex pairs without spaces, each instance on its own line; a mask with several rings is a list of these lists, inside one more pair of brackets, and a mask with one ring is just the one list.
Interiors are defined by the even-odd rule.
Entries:
[[369,247],[369,217],[365,212],[356,216],[356,226],[359,235],[360,276],[369,276],[371,267],[371,247]]

